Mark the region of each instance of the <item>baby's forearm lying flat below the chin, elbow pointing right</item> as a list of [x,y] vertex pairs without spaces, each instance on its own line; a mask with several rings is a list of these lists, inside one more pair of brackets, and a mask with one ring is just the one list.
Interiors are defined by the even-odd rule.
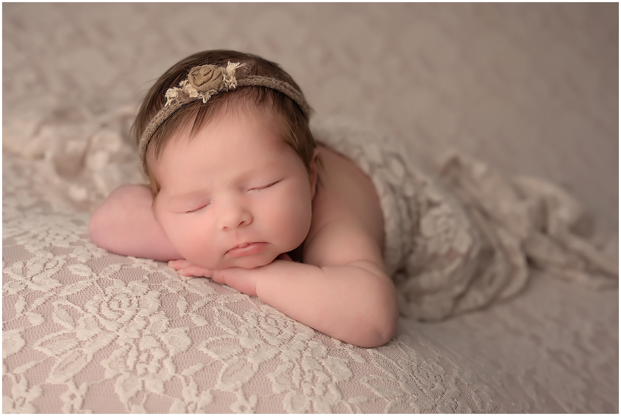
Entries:
[[255,269],[234,267],[214,272],[214,280],[240,285],[244,292],[254,284],[256,296],[263,302],[347,343],[363,347],[385,344],[397,325],[394,285],[370,262],[317,267],[277,260]]

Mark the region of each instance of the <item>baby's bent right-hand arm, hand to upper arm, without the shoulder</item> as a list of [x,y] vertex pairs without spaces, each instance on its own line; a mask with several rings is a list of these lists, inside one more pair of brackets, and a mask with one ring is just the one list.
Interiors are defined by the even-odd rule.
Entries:
[[399,314],[396,291],[365,229],[353,219],[333,221],[307,243],[305,259],[311,264],[275,260],[255,269],[209,270],[177,261],[170,266],[258,296],[338,340],[366,348],[388,342]]

